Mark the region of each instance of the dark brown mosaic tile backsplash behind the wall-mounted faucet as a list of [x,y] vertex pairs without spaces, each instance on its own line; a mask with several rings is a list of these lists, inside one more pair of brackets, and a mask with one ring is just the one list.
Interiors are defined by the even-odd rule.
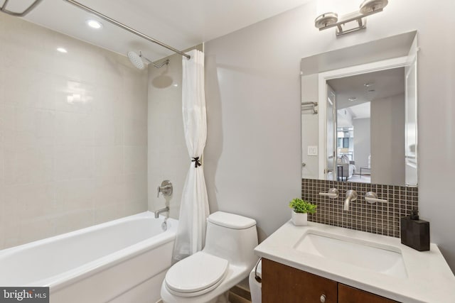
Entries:
[[[340,192],[338,198],[319,194],[332,187]],[[349,211],[343,211],[348,189],[354,189],[358,198],[350,202]],[[387,203],[366,202],[366,192],[376,192]],[[400,217],[409,216],[418,206],[417,187],[302,179],[301,195],[318,206],[316,214],[309,215],[309,221],[392,237],[400,237]]]

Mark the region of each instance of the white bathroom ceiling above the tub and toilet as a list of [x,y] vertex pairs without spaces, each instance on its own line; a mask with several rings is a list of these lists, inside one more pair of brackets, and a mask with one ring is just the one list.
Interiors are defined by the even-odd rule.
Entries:
[[[311,0],[79,0],[114,20],[178,50],[232,33]],[[2,4],[4,0],[0,0]],[[23,11],[33,0],[11,0],[10,11]],[[117,53],[141,50],[151,60],[171,55],[170,50],[90,15],[64,0],[43,0],[24,17],[60,33]],[[99,30],[88,19],[102,23]]]

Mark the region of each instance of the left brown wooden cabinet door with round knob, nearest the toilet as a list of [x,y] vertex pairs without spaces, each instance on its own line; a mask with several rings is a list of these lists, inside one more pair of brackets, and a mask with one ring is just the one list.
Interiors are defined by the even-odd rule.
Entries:
[[262,302],[336,303],[337,282],[262,259]]

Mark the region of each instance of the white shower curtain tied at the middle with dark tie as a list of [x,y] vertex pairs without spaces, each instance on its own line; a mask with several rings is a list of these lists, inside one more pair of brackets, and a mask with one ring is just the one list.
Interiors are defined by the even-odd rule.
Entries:
[[207,137],[204,92],[204,53],[188,52],[182,58],[182,112],[186,147],[191,164],[183,185],[178,231],[173,249],[173,262],[202,250],[208,217],[208,197],[203,167],[200,162]]

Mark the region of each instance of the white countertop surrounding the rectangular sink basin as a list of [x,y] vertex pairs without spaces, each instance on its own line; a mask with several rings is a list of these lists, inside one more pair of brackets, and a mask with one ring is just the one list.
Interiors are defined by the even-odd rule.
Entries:
[[[296,243],[307,231],[356,238],[378,243],[378,246],[393,246],[394,250],[402,253],[407,277],[393,277],[296,250]],[[433,243],[429,251],[421,252],[402,245],[400,238],[314,222],[309,222],[308,226],[294,226],[289,221],[259,244],[255,253],[259,257],[400,302],[455,302],[455,276]]]

